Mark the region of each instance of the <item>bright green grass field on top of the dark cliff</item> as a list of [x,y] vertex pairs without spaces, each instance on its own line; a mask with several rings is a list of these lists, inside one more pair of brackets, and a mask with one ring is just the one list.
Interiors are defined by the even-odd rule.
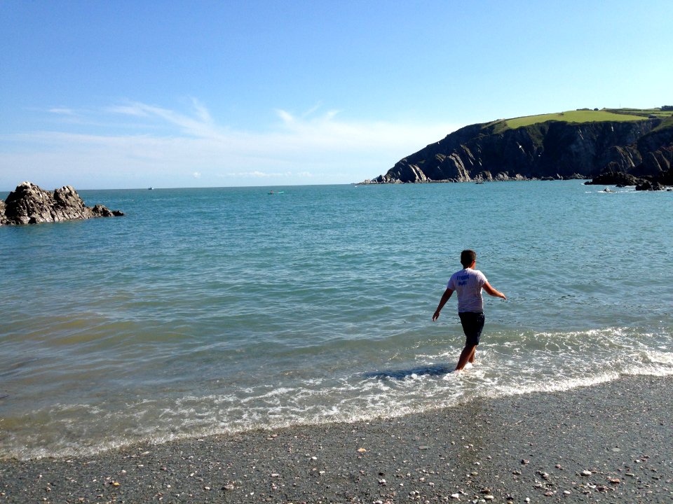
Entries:
[[503,119],[490,123],[495,125],[494,133],[505,130],[515,130],[519,127],[530,126],[537,123],[545,123],[550,120],[564,123],[597,123],[601,121],[637,121],[645,120],[651,116],[666,118],[673,116],[673,111],[661,111],[660,109],[602,109],[599,111],[582,109],[566,112],[541,114],[540,116],[526,116],[513,119]]

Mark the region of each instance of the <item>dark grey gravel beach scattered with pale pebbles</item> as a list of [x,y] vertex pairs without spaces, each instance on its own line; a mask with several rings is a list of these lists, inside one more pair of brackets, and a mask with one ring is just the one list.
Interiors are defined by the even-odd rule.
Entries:
[[0,503],[673,502],[673,377],[0,461]]

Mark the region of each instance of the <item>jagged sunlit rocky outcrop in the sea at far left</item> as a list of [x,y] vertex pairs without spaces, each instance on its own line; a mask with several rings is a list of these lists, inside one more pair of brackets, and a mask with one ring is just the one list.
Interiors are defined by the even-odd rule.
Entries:
[[123,216],[97,204],[87,207],[72,186],[52,192],[34,183],[22,182],[0,202],[0,225],[37,224],[92,217]]

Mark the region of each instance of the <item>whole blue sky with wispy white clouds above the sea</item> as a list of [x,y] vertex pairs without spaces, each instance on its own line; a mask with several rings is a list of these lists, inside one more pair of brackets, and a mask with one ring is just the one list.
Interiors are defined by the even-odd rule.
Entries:
[[0,0],[0,190],[351,183],[458,127],[673,104],[673,2]]

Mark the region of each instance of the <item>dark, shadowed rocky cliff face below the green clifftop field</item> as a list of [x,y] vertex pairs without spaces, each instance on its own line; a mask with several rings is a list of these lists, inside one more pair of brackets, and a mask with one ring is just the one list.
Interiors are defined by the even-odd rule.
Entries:
[[665,160],[673,127],[662,127],[663,121],[548,121],[501,132],[501,123],[470,125],[371,183],[591,178],[606,171],[654,175],[670,169]]

